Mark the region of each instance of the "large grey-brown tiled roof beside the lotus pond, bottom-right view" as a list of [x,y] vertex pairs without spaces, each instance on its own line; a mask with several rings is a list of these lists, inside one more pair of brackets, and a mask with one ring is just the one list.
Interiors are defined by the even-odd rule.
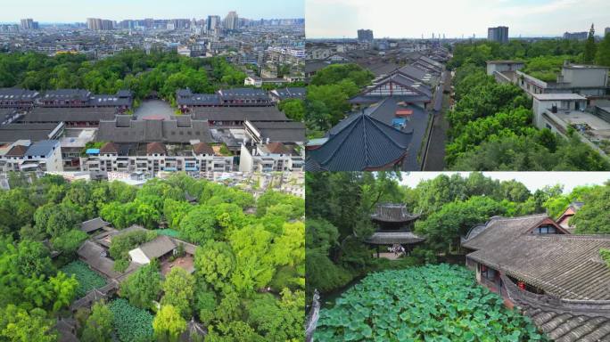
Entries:
[[[534,234],[552,225],[557,234]],[[573,235],[546,215],[495,217],[474,227],[462,242],[477,249],[469,259],[543,289],[551,297],[610,300],[610,268],[599,256],[610,248],[610,235]]]

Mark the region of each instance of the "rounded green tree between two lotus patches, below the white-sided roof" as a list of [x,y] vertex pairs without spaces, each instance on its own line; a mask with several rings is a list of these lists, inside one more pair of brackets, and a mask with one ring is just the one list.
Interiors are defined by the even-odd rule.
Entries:
[[120,297],[128,298],[129,304],[141,309],[151,309],[152,301],[157,300],[160,293],[161,273],[156,262],[140,267],[120,283]]

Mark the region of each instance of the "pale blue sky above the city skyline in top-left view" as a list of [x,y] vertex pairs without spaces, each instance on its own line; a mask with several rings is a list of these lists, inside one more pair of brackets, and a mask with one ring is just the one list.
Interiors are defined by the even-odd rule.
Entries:
[[0,22],[85,22],[87,18],[201,19],[237,11],[243,18],[303,18],[304,0],[21,0],[0,7]]

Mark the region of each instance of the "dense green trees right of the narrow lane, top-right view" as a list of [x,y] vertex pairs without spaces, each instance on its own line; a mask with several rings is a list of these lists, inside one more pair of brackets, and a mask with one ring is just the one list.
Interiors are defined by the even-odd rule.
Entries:
[[[561,57],[532,59],[532,71],[559,68]],[[557,65],[559,64],[559,65]],[[482,68],[456,70],[455,108],[445,160],[454,170],[606,170],[610,164],[578,137],[568,140],[532,126],[532,104],[512,84],[496,83]]]

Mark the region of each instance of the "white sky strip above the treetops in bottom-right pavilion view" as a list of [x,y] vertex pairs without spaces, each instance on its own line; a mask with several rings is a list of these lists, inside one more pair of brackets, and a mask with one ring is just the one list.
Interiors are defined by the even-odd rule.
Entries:
[[[435,178],[438,175],[460,174],[464,177],[469,172],[412,172],[402,175],[402,184],[411,188],[423,180]],[[498,179],[499,181],[515,181],[523,183],[530,191],[536,191],[546,185],[564,185],[564,192],[568,193],[580,185],[597,185],[610,180],[610,172],[483,172],[483,175]]]

